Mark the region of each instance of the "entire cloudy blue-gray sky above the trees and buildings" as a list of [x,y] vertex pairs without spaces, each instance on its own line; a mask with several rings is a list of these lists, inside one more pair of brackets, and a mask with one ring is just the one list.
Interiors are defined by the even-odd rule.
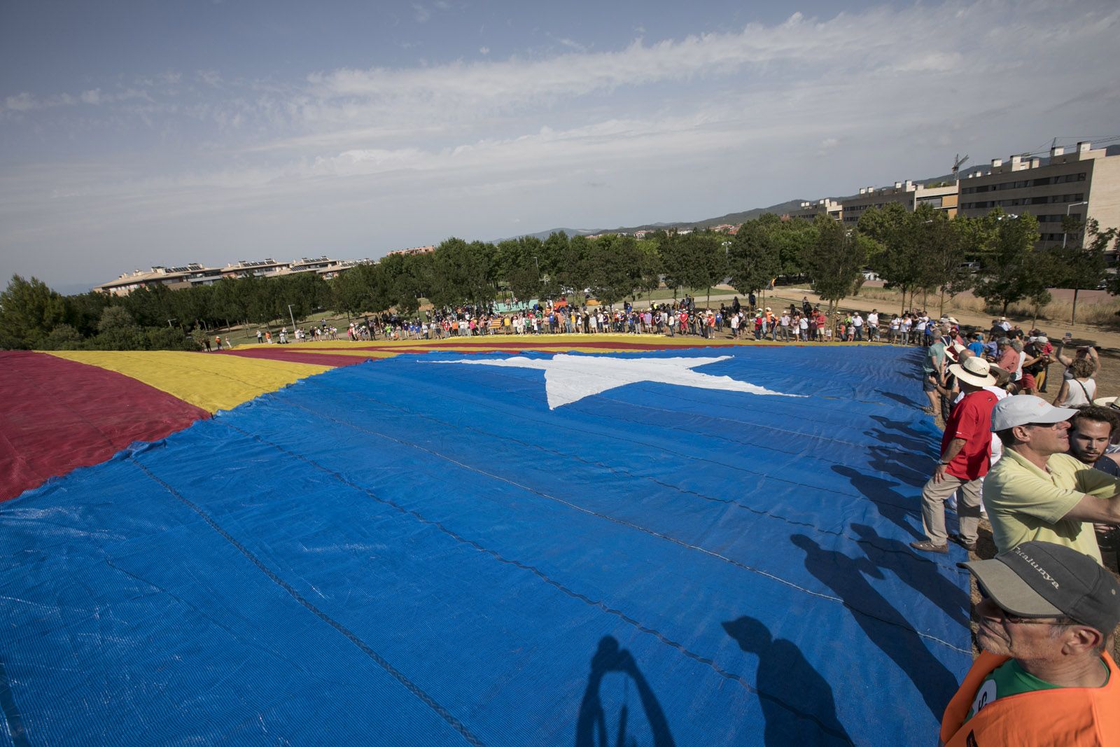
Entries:
[[1120,134],[1113,0],[0,2],[0,282],[699,221]]

